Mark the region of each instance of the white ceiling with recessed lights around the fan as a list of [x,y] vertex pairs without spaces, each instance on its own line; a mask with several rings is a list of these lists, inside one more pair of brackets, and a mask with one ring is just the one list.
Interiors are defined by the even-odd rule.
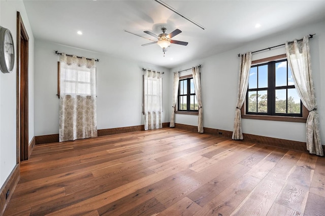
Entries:
[[[247,42],[325,20],[325,1],[164,1],[205,30],[153,0],[30,1],[24,0],[36,39],[77,47],[167,68],[234,49]],[[255,24],[262,26],[255,28]],[[179,28],[164,57],[144,30],[155,34]],[[77,31],[81,30],[82,35]]]

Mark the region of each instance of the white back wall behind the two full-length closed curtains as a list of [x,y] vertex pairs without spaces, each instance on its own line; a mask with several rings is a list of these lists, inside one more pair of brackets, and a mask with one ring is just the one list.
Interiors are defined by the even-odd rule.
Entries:
[[98,129],[144,124],[142,114],[142,67],[164,71],[163,122],[169,122],[169,69],[101,53],[35,41],[35,135],[56,134],[59,130],[57,94],[57,61],[54,50],[98,58],[97,121]]

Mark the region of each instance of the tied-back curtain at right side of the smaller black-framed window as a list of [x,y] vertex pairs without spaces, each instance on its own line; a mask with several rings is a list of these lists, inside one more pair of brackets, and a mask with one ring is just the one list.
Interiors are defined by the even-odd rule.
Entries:
[[201,77],[200,77],[200,66],[192,67],[193,83],[195,89],[195,95],[198,99],[199,105],[199,122],[198,132],[203,133],[203,108],[202,108],[202,93],[201,93]]

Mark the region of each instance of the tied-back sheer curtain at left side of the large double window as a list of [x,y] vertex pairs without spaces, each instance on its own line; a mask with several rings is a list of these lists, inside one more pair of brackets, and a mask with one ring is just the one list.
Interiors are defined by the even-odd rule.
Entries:
[[242,117],[240,112],[246,97],[246,92],[248,88],[249,70],[250,70],[251,63],[252,63],[251,52],[245,53],[244,55],[241,56],[233,139],[244,138],[242,132],[242,123],[241,123]]

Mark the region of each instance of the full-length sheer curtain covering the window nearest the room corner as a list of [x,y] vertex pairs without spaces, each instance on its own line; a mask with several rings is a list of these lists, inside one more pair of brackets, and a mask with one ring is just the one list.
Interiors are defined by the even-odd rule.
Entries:
[[151,130],[162,128],[161,112],[163,78],[156,71],[145,70],[143,75],[143,107],[144,107],[144,129]]

